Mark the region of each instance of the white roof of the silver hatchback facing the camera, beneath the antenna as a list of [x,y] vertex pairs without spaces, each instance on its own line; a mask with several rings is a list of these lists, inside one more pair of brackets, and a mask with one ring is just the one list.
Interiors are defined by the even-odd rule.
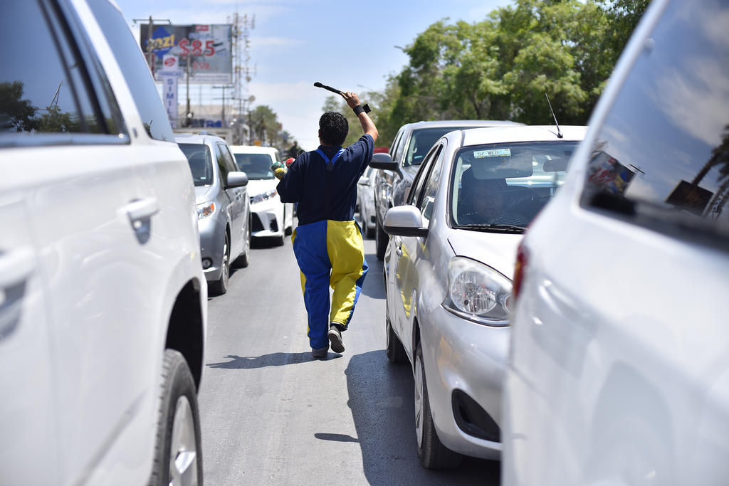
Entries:
[[557,136],[555,125],[521,125],[512,127],[469,128],[460,130],[461,146],[501,144],[508,142],[533,141],[581,141],[587,133],[587,126],[560,126],[562,137]]

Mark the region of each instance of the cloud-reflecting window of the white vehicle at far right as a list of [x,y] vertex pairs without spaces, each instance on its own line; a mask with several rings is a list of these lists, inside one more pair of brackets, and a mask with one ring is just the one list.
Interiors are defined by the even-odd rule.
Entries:
[[[729,235],[729,44],[717,0],[674,1],[596,136],[581,203],[687,238]],[[719,236],[722,235],[722,236]],[[713,238],[712,238],[713,239]]]

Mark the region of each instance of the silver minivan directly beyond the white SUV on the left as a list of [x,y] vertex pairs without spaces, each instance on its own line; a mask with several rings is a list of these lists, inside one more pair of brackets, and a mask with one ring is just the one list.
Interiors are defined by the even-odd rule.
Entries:
[[220,137],[176,133],[187,156],[198,204],[200,255],[210,293],[227,292],[230,266],[247,267],[251,251],[251,203],[241,172]]

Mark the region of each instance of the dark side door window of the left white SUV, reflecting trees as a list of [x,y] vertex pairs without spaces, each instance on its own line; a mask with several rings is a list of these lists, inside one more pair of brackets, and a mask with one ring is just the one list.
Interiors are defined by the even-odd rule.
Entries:
[[[13,1],[0,16],[0,144],[28,143],[47,134],[107,133],[85,88],[84,63],[61,20],[36,1]],[[46,23],[48,19],[52,28]],[[28,35],[32,32],[33,35]],[[54,35],[55,34],[55,35]],[[23,39],[23,48],[12,47]],[[32,62],[28,53],[32,52]],[[98,114],[98,116],[97,116]],[[55,143],[71,138],[55,138]]]

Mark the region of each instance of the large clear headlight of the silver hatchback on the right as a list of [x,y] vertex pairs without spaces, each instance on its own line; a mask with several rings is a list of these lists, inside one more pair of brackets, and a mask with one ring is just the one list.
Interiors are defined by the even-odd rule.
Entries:
[[454,256],[448,263],[448,294],[443,307],[479,324],[507,326],[511,289],[511,281],[493,268]]

